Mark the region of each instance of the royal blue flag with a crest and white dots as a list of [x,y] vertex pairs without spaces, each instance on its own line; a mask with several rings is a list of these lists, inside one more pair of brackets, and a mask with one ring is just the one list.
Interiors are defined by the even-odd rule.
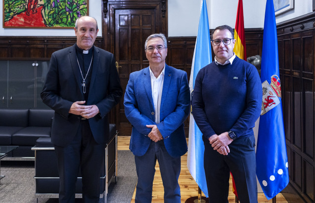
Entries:
[[281,192],[289,182],[279,76],[274,2],[267,0],[261,57],[263,101],[257,140],[256,174],[268,200]]

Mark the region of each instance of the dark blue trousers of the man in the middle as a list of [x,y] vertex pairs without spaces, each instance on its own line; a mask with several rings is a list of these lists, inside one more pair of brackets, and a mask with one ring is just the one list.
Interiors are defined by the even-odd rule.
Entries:
[[147,152],[135,156],[138,175],[135,203],[151,203],[152,186],[156,160],[159,162],[164,186],[164,203],[180,203],[180,157],[171,157],[166,151],[164,141],[152,141]]

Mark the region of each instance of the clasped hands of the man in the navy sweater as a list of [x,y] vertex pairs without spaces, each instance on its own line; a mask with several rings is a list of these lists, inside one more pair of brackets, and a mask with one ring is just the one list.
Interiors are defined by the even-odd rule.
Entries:
[[228,153],[230,153],[228,145],[233,141],[233,139],[230,138],[227,132],[220,135],[212,135],[209,137],[209,141],[213,150],[216,150],[222,155],[228,155]]

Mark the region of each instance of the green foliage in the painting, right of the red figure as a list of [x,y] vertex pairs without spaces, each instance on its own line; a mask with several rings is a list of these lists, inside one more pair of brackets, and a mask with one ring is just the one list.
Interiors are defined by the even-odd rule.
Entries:
[[48,27],[74,27],[75,20],[87,13],[87,0],[46,0],[42,15]]

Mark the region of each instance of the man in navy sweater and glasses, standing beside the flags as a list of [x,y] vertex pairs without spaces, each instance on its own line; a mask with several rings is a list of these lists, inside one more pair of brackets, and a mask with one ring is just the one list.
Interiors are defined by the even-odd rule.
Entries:
[[233,29],[212,32],[214,62],[195,81],[192,112],[203,134],[204,168],[211,203],[228,203],[232,172],[241,203],[257,203],[255,137],[262,86],[257,69],[234,52]]

